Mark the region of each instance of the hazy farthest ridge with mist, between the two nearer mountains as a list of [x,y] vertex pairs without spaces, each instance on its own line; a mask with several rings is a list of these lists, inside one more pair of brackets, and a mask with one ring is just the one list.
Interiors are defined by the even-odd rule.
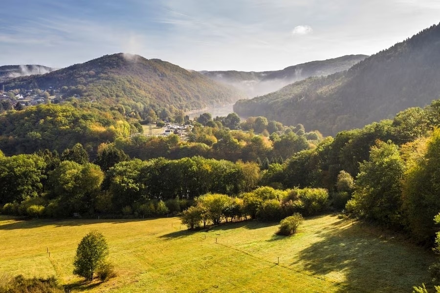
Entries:
[[209,78],[233,85],[247,94],[249,98],[265,95],[279,90],[287,84],[301,81],[310,76],[326,76],[349,69],[367,55],[346,55],[339,58],[312,61],[289,66],[283,70],[245,72],[245,71],[201,71]]

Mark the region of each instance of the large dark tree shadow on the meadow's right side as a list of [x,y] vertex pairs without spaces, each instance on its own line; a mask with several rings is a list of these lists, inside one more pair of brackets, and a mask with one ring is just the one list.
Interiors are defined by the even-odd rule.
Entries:
[[292,265],[302,264],[305,271],[325,278],[342,273],[338,292],[411,292],[413,286],[429,283],[427,269],[434,255],[389,240],[365,224],[338,223],[321,232],[323,239],[301,251]]

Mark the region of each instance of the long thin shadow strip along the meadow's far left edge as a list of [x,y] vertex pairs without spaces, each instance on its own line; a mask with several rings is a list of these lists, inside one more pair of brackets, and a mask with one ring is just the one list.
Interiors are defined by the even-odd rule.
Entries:
[[[2,218],[0,218],[1,220]],[[0,225],[0,230],[15,230],[15,229],[32,229],[39,228],[49,225],[54,225],[55,227],[74,227],[74,226],[84,226],[92,225],[98,223],[128,223],[128,222],[139,222],[154,219],[29,219],[29,218],[4,218],[7,220],[13,220],[12,223]]]

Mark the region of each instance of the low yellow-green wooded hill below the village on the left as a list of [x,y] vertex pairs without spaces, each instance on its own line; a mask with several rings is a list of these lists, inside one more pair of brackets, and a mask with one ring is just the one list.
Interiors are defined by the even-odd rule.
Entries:
[[[140,127],[139,124],[138,127]],[[0,149],[6,154],[40,149],[63,151],[81,143],[90,153],[97,146],[139,132],[118,111],[103,112],[72,105],[37,105],[0,115]]]

